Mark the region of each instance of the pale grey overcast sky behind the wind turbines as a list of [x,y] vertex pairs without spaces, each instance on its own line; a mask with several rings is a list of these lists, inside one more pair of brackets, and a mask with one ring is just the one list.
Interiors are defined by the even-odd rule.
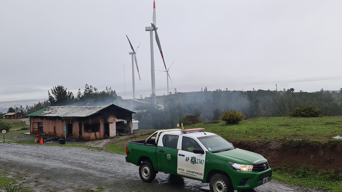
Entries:
[[[156,0],[158,35],[179,92],[342,87],[342,1]],[[136,97],[151,92],[153,0],[0,0],[0,107],[32,105],[48,89],[106,86],[132,96],[131,51],[141,43]],[[154,40],[155,69],[163,70]],[[157,95],[167,94],[156,71]],[[170,82],[170,90],[173,90]]]

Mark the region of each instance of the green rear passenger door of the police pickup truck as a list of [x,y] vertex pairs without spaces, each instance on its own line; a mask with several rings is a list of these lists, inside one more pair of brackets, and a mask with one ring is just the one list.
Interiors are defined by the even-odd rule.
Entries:
[[158,168],[162,172],[176,174],[179,135],[165,134],[161,139],[157,146]]

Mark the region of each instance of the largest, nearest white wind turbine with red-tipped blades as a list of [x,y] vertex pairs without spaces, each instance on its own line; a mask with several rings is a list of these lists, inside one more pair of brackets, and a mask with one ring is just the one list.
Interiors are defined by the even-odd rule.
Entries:
[[156,2],[155,2],[155,0],[153,0],[153,17],[152,17],[152,19],[153,19],[153,23],[151,23],[152,27],[145,27],[145,31],[150,32],[152,93],[156,94],[156,78],[155,78],[155,73],[154,73],[155,70],[154,70],[154,55],[153,55],[153,31],[156,34],[156,42],[157,42],[157,45],[158,45],[158,48],[160,51],[161,58],[163,59],[165,70],[167,70],[167,69],[166,69],[166,64],[165,64],[163,52],[162,52],[161,46],[160,46],[159,36],[157,33],[158,27],[156,26]]

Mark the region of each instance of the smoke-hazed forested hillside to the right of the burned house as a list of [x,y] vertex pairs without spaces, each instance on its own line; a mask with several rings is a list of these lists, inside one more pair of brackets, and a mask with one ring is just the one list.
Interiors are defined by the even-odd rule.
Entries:
[[152,107],[135,114],[139,128],[174,128],[178,119],[181,121],[186,115],[196,115],[201,121],[219,120],[223,110],[229,109],[241,112],[246,118],[276,117],[289,116],[294,107],[313,105],[322,109],[324,116],[342,115],[342,89],[295,92],[293,88],[283,91],[207,91],[205,88],[205,91],[177,92],[156,98],[164,109]]

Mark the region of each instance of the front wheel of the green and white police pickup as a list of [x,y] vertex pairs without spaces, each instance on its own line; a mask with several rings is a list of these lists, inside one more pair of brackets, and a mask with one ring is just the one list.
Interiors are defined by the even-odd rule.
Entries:
[[210,178],[209,188],[211,192],[234,192],[231,179],[223,174],[213,175]]

